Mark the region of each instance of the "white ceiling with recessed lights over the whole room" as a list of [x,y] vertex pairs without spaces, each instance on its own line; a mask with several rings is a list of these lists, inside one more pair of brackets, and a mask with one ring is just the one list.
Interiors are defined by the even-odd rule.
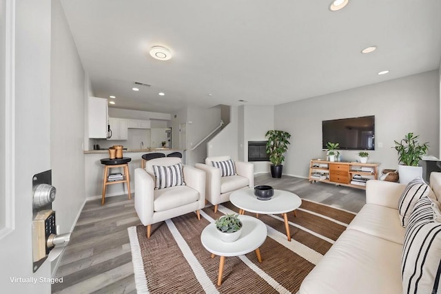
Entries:
[[[95,96],[125,109],[278,105],[440,65],[440,0],[349,0],[338,12],[331,0],[61,3]],[[153,59],[154,45],[172,59]],[[152,86],[134,92],[134,81]]]

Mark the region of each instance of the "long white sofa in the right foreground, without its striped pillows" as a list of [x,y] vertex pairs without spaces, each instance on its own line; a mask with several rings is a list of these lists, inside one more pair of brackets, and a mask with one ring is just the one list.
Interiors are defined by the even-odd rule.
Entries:
[[[430,186],[440,201],[441,173],[431,174]],[[398,201],[405,188],[395,182],[369,180],[367,204],[307,275],[299,293],[403,293],[401,257],[406,229],[400,224]]]

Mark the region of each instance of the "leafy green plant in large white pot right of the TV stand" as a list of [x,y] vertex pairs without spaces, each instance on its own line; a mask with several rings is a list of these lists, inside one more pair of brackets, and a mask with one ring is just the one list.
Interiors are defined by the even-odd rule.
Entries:
[[407,184],[418,176],[422,177],[422,167],[418,166],[418,162],[422,159],[424,154],[427,154],[429,149],[429,142],[418,143],[418,135],[409,133],[401,139],[400,142],[395,142],[395,148],[398,152],[398,176],[400,182]]

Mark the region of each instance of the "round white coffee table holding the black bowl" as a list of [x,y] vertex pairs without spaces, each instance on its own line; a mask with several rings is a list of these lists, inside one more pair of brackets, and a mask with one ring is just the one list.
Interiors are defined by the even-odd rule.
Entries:
[[240,189],[229,196],[229,201],[238,207],[239,213],[245,211],[262,214],[282,214],[285,219],[285,229],[288,241],[291,241],[287,213],[294,211],[302,204],[302,200],[296,194],[289,191],[274,190],[274,196],[270,200],[258,200],[254,195],[254,188]]

